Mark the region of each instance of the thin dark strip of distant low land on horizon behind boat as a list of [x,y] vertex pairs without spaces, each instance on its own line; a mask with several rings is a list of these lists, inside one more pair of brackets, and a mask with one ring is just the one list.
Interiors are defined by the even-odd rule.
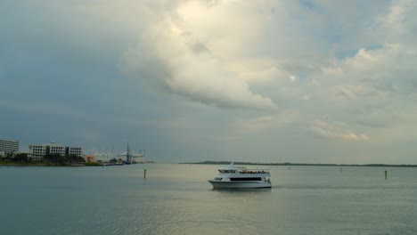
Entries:
[[[201,161],[201,162],[184,162],[179,164],[201,164],[201,165],[229,165],[231,161]],[[259,163],[259,162],[233,162],[234,165],[248,166],[385,166],[385,167],[417,167],[411,164],[331,164],[331,163]]]

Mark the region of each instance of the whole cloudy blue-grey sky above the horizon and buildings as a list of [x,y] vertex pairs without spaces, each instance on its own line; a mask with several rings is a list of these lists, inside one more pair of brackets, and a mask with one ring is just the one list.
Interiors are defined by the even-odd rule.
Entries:
[[4,0],[0,139],[417,164],[413,0]]

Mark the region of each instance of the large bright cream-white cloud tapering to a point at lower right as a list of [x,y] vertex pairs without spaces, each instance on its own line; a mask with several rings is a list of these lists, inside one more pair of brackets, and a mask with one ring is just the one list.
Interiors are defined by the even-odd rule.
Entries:
[[153,17],[138,44],[125,53],[123,68],[192,101],[231,109],[276,109],[274,101],[251,91],[239,73],[227,67],[230,57],[225,55],[241,52],[248,46],[245,37],[258,35],[252,31],[257,30],[256,21],[230,17],[231,9],[231,4],[185,2],[158,20]]

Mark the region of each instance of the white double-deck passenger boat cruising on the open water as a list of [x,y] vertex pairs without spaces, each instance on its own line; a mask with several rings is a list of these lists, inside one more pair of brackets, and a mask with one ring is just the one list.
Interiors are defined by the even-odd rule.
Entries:
[[271,188],[269,169],[247,169],[244,166],[218,167],[217,176],[209,180],[214,189]]

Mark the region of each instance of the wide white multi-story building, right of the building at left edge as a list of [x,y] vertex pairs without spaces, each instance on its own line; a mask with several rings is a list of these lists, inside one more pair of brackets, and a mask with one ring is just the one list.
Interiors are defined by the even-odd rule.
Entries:
[[46,154],[77,155],[83,157],[83,148],[64,146],[60,143],[29,144],[28,156],[34,160],[44,158]]

